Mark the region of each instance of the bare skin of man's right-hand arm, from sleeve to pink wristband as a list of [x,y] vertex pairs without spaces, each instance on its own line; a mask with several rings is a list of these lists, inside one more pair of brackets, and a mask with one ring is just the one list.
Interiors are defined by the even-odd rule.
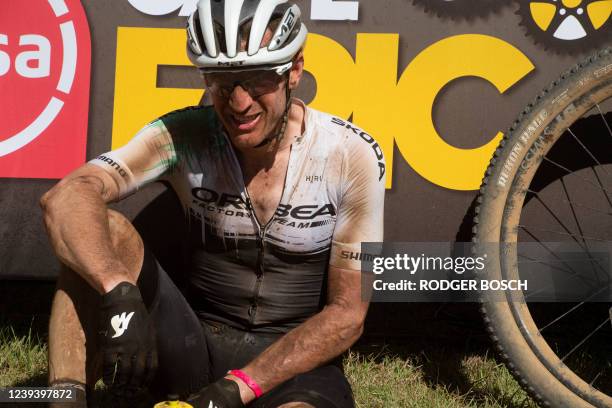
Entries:
[[[243,368],[264,392],[310,371],[347,350],[363,332],[368,302],[361,297],[361,272],[329,267],[328,304],[281,337]],[[245,402],[254,395],[237,381]]]

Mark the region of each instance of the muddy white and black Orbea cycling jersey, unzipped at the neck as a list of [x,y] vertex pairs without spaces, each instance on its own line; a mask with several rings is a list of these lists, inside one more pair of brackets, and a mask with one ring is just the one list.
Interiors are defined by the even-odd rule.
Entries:
[[126,196],[165,179],[190,220],[190,293],[200,317],[286,332],[325,304],[328,265],[360,269],[360,244],[381,241],[385,163],[367,133],[305,107],[280,203],[260,225],[212,107],[163,116],[91,163]]

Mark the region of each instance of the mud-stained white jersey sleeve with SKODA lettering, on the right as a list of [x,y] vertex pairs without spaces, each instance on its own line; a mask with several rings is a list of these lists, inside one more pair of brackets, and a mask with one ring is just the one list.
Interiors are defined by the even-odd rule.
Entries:
[[355,128],[347,133],[330,265],[360,270],[361,243],[383,240],[385,161],[370,135]]

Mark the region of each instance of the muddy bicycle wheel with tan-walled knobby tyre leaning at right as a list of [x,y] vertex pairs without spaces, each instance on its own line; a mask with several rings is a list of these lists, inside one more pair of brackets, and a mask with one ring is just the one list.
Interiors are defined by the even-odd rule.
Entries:
[[[497,243],[484,279],[520,279],[520,255],[505,250],[508,244],[612,241],[611,96],[607,48],[542,92],[504,137],[474,219],[476,254]],[[483,302],[482,312],[509,370],[538,403],[612,407],[609,307],[533,304],[522,292],[506,292]]]

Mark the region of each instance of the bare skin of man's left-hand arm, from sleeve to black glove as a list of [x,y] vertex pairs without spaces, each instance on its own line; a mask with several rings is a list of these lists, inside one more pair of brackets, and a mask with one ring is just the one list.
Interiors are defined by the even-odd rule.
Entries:
[[119,197],[113,178],[86,164],[40,200],[51,245],[62,263],[100,293],[122,281],[135,283],[112,246],[107,203]]

